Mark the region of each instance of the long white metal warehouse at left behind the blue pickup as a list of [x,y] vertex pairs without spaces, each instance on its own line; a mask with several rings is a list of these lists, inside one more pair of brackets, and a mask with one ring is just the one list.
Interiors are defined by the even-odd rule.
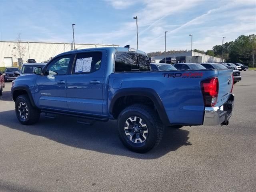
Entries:
[[[20,47],[20,49],[18,48]],[[96,47],[118,47],[115,44],[75,44],[76,49],[96,48]],[[43,62],[50,57],[60,53],[73,50],[72,43],[53,42],[17,42],[0,41],[0,67],[20,66],[20,54],[18,50],[24,50],[22,62],[28,59],[35,59],[36,62]]]

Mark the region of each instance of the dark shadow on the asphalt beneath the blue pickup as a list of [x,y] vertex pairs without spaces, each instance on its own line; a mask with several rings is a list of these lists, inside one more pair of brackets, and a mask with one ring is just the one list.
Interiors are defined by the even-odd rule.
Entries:
[[187,130],[166,128],[162,142],[156,148],[145,154],[131,152],[120,142],[114,120],[88,126],[76,123],[75,118],[57,116],[49,119],[42,114],[37,124],[25,126],[18,122],[15,111],[10,110],[0,112],[0,124],[75,148],[139,159],[160,158],[182,146],[192,145],[188,142]]

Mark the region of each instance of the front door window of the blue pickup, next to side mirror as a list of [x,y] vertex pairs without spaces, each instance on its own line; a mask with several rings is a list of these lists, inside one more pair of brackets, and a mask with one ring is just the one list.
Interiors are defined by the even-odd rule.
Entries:
[[65,75],[68,72],[68,66],[72,60],[71,55],[63,56],[54,59],[50,64],[46,67],[45,75]]

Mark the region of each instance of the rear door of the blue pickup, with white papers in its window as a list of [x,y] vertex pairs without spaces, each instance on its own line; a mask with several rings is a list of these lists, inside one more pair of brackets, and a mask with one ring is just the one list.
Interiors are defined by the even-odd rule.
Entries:
[[102,114],[106,51],[86,51],[76,55],[72,74],[67,77],[70,111]]

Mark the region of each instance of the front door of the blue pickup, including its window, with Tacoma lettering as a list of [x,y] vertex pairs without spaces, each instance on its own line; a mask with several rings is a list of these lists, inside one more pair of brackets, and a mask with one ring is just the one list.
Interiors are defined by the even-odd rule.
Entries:
[[73,60],[74,55],[60,56],[46,66],[44,76],[38,76],[35,91],[38,107],[68,110],[66,81]]

